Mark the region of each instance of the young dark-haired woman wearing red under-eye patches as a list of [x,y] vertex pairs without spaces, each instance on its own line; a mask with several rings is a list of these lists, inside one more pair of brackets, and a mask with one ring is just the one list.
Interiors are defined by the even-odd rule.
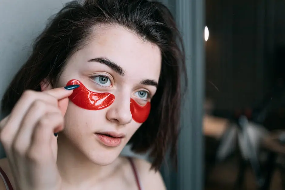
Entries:
[[[169,10],[147,0],[70,2],[9,85],[0,189],[165,189],[186,78]],[[151,102],[151,103],[150,103]],[[153,162],[119,156],[149,151]]]

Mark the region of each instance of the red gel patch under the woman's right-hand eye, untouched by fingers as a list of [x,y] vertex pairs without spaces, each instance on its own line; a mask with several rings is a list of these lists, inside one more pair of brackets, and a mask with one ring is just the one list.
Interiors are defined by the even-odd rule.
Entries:
[[131,113],[134,121],[143,123],[149,116],[150,102],[147,102],[145,106],[140,106],[134,99],[131,98]]

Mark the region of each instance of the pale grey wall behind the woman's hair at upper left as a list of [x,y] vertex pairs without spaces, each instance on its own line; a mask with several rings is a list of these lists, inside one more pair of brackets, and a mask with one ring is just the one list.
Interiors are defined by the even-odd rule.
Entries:
[[[30,55],[31,44],[47,19],[66,2],[69,0],[0,0],[0,97]],[[122,154],[133,155],[129,147]],[[0,145],[0,158],[4,155]]]

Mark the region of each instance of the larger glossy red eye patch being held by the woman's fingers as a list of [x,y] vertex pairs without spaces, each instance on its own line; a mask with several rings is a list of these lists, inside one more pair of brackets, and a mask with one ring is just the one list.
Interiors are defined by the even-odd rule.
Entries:
[[70,80],[67,83],[68,85],[79,85],[78,88],[75,88],[72,92],[72,95],[69,96],[69,99],[80,108],[89,109],[89,110],[100,110],[110,106],[114,100],[115,96],[104,92],[92,92],[88,90],[82,82],[78,80]]

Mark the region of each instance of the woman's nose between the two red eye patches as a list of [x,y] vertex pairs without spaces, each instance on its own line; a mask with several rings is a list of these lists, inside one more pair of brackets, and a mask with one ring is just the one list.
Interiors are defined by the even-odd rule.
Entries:
[[111,122],[126,125],[132,121],[132,113],[130,110],[131,97],[116,96],[115,101],[106,113],[106,117]]

